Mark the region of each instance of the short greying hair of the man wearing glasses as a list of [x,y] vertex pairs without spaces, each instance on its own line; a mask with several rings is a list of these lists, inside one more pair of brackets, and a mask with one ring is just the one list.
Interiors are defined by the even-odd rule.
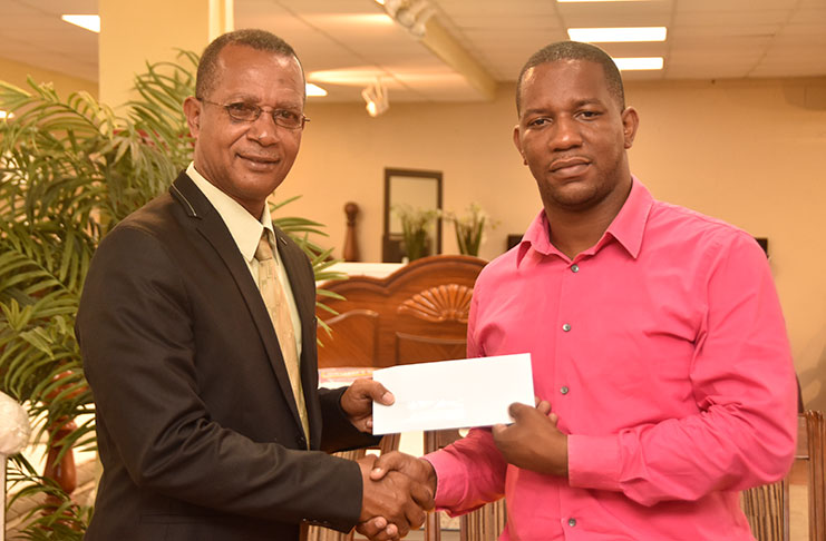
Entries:
[[206,46],[204,53],[201,55],[197,76],[195,78],[196,98],[205,98],[213,88],[215,88],[218,77],[218,55],[224,50],[224,47],[230,45],[246,46],[259,51],[269,51],[284,57],[292,57],[297,62],[299,62],[301,77],[304,77],[304,69],[301,67],[301,60],[299,60],[298,55],[295,55],[295,51],[290,43],[266,30],[245,28],[243,30],[235,30],[218,36],[212,41],[212,43]]

